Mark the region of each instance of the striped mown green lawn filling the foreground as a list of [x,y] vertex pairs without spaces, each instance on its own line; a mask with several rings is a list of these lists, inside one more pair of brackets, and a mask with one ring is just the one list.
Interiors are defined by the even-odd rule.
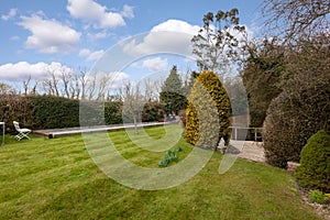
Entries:
[[[173,130],[177,129],[172,125]],[[164,129],[147,129],[154,139]],[[91,138],[99,134],[89,134]],[[165,152],[148,153],[123,131],[109,134],[125,158],[157,167]],[[81,135],[0,146],[0,219],[319,219],[285,170],[238,160],[219,175],[215,153],[194,178],[165,190],[138,190],[107,177],[90,158]],[[183,158],[191,146],[180,140]]]

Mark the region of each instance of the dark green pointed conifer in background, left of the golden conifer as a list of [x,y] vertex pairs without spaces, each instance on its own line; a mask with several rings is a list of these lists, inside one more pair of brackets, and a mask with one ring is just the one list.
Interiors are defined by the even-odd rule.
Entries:
[[183,80],[177,73],[177,67],[173,66],[169,76],[165,79],[162,91],[160,94],[161,102],[165,106],[166,113],[178,113],[187,106],[187,98],[185,97]]

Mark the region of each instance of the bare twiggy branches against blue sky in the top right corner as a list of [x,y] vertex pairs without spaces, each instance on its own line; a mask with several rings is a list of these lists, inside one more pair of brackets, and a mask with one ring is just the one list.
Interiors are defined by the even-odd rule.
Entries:
[[[300,35],[315,35],[329,29],[329,0],[265,0],[262,13],[265,25],[286,41]],[[278,32],[279,30],[279,32]]]

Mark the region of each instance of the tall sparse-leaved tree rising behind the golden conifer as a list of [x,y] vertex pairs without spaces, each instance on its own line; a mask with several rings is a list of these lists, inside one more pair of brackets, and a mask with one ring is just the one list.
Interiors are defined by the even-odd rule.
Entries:
[[245,28],[239,24],[238,14],[239,10],[232,9],[204,15],[204,26],[191,38],[193,54],[197,58],[200,72],[211,70],[223,79],[231,62],[241,61],[246,32]]

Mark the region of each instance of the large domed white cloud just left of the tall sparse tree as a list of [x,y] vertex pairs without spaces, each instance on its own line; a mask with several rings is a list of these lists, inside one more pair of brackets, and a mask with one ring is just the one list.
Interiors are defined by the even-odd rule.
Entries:
[[191,25],[180,20],[167,20],[144,36],[143,42],[135,40],[123,45],[123,52],[132,55],[146,55],[152,53],[190,54],[194,35],[200,26]]

